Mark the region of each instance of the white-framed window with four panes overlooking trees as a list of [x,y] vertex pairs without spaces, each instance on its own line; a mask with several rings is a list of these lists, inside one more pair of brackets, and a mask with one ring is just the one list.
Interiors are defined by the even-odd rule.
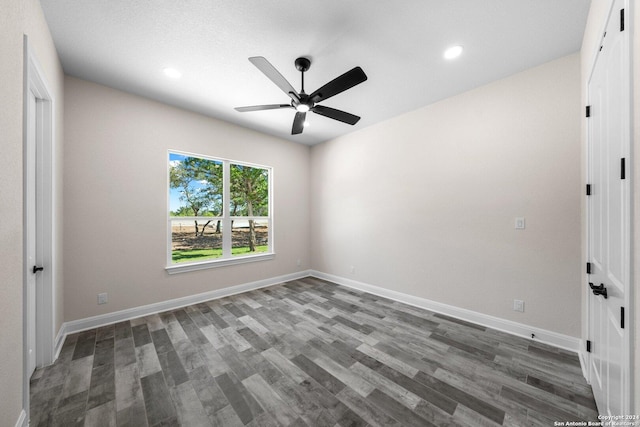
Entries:
[[271,168],[169,152],[169,272],[273,257]]

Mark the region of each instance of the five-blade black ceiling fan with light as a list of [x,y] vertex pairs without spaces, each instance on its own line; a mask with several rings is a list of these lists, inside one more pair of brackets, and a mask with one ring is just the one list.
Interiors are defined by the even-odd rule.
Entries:
[[332,96],[344,92],[345,90],[367,80],[367,75],[362,71],[362,68],[355,67],[331,80],[329,83],[312,92],[310,95],[307,95],[304,91],[304,73],[309,69],[309,67],[311,67],[311,61],[308,58],[301,57],[295,60],[296,68],[302,74],[302,88],[299,93],[296,92],[287,79],[285,79],[282,74],[280,74],[278,70],[276,70],[276,68],[262,56],[253,56],[249,58],[249,61],[251,61],[253,65],[255,65],[265,76],[269,78],[269,80],[274,82],[276,86],[286,93],[291,98],[291,103],[236,107],[237,111],[244,113],[247,111],[293,108],[296,110],[296,116],[293,119],[291,135],[302,133],[308,111],[313,111],[321,116],[329,117],[330,119],[338,120],[350,125],[355,125],[358,123],[358,120],[360,120],[360,117],[356,115],[336,110],[335,108],[325,107],[324,105],[318,105],[318,102],[331,98]]

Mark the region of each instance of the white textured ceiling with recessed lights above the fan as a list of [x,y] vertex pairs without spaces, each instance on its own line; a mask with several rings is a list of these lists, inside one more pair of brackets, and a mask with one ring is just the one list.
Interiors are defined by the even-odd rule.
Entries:
[[[588,0],[41,0],[67,74],[303,144],[370,126],[580,49]],[[464,46],[456,60],[443,51]],[[295,111],[247,58],[312,92],[361,66],[368,80],[322,105],[355,126]],[[178,80],[162,70],[182,72]]]

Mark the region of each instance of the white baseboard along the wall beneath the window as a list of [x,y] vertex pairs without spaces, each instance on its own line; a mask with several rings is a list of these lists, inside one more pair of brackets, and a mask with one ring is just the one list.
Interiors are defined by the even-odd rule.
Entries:
[[309,276],[310,274],[311,273],[309,270],[304,270],[297,273],[258,280],[256,282],[243,283],[236,286],[230,286],[228,288],[216,289],[214,291],[204,292],[201,294],[189,295],[182,298],[143,305],[140,307],[133,307],[126,310],[114,311],[113,313],[101,314],[99,316],[64,322],[56,337],[55,358],[58,358],[60,350],[62,349],[62,345],[64,344],[64,340],[69,334],[86,331],[88,329],[99,328],[101,326],[111,325],[113,323],[131,320],[137,317],[149,316],[151,314],[161,313],[163,311],[175,310],[180,307],[186,307],[188,305],[198,304],[212,299],[224,298],[231,295],[240,294],[242,292],[252,291],[254,289],[265,288],[267,286],[277,285],[279,283],[288,282],[290,280],[301,279],[303,277]]

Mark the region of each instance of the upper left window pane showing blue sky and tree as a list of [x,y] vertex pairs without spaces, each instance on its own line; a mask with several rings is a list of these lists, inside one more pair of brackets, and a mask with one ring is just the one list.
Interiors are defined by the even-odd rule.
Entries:
[[171,216],[222,216],[222,162],[169,153]]

